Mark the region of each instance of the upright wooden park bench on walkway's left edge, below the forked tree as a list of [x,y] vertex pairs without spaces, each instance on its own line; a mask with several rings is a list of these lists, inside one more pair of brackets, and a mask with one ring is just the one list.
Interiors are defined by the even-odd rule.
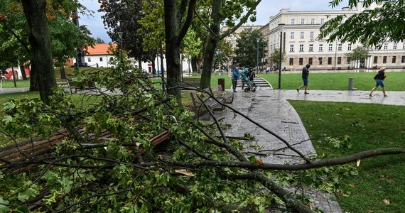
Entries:
[[[212,97],[215,97],[217,101],[215,101],[215,99],[213,99],[210,94],[211,91],[209,88],[207,89],[203,89],[204,92],[191,92],[191,99],[193,100],[193,111],[197,114],[201,107],[202,104],[207,105],[208,109],[210,109],[210,111],[215,110],[215,109],[220,109],[223,110],[225,109],[224,104],[230,104],[234,101],[234,93],[233,92],[224,92],[222,89],[221,85],[217,85],[215,87],[211,88],[212,91]],[[208,92],[209,94],[207,94],[206,92]]]

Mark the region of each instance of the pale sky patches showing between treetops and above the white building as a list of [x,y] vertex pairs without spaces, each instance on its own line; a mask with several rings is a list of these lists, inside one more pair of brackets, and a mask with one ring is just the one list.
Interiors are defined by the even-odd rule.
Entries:
[[[342,0],[342,3],[332,9],[329,6],[331,0],[261,0],[259,6],[257,6],[257,21],[253,24],[264,25],[269,23],[269,17],[279,13],[280,9],[291,9],[291,11],[324,11],[324,10],[340,10],[342,7],[347,6],[348,0]],[[81,16],[80,25],[86,25],[92,32],[93,38],[102,38],[104,42],[108,43],[111,38],[104,29],[102,23],[102,14],[97,13],[99,9],[99,3],[97,0],[80,0],[80,2],[95,14],[92,16]],[[251,23],[252,24],[252,23]]]

